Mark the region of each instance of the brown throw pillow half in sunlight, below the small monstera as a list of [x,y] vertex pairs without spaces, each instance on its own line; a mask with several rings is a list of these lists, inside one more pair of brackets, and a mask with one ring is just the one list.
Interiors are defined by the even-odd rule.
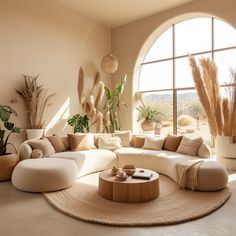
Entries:
[[71,151],[84,151],[91,148],[87,134],[67,134],[67,136]]

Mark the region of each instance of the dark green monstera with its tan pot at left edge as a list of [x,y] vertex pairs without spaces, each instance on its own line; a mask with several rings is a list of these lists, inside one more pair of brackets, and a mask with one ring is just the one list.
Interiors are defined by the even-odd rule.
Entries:
[[7,153],[8,145],[15,148],[12,143],[9,143],[10,135],[20,132],[20,128],[9,121],[11,115],[17,116],[16,111],[10,106],[0,104],[0,181],[11,178],[12,171],[18,162],[17,154]]

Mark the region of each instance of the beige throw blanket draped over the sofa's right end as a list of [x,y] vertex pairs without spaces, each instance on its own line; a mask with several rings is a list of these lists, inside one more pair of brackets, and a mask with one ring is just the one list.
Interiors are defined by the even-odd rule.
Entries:
[[195,190],[197,174],[203,160],[189,160],[176,164],[177,185],[179,188]]

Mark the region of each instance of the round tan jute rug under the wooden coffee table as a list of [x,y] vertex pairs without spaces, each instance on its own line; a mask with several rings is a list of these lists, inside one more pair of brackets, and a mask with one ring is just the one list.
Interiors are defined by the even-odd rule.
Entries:
[[169,177],[160,175],[160,196],[144,203],[118,203],[98,193],[98,173],[80,178],[71,188],[44,193],[59,211],[74,218],[116,226],[151,226],[187,222],[222,206],[229,188],[217,192],[180,190]]

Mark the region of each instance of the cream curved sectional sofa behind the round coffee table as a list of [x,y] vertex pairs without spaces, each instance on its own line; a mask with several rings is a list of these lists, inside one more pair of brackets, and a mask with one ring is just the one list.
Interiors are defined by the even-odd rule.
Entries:
[[[65,137],[64,137],[65,139]],[[29,159],[32,148],[25,141],[20,147],[20,159]],[[210,155],[210,154],[209,154]],[[115,151],[90,149],[85,151],[65,151],[50,155],[51,158],[74,160],[78,169],[77,177],[102,171],[112,166],[123,167],[132,164],[169,176],[175,182],[176,165],[188,160],[204,160],[198,171],[199,191],[217,191],[226,187],[228,174],[223,165],[212,158],[201,158],[166,150],[149,150],[135,147],[122,147]]]

